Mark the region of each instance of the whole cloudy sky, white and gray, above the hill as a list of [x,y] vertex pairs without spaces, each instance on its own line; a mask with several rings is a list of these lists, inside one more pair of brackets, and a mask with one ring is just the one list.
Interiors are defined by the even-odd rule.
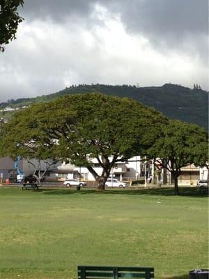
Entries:
[[0,102],[72,84],[208,90],[208,0],[25,0],[0,54]]

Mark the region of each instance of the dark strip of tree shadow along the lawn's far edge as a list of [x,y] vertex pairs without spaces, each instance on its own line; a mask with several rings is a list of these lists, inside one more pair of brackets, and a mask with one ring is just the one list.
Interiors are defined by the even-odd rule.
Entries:
[[[95,194],[95,195],[155,195],[155,196],[173,196],[174,195],[174,189],[171,187],[167,188],[127,188],[125,190],[121,189],[107,189],[104,191],[91,189],[91,188],[84,188],[82,190],[76,190],[76,188],[60,188],[60,189],[53,189],[53,188],[42,188],[39,190],[39,192],[43,192],[45,195],[74,195],[74,194],[80,194],[80,195],[89,195],[89,194]],[[201,195],[199,193],[198,188],[189,188],[189,187],[180,187],[180,196],[183,197],[202,197],[206,198],[207,195]]]

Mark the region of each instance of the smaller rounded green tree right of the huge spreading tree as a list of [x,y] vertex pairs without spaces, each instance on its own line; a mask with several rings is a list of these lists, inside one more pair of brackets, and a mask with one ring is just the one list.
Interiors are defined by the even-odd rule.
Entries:
[[196,124],[170,120],[148,154],[171,172],[175,195],[179,195],[180,169],[192,163],[206,165],[208,161],[208,133]]

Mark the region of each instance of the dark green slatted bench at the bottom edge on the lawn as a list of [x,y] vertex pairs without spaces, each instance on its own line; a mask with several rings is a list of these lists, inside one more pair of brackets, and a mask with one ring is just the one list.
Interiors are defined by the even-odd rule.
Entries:
[[153,267],[78,266],[78,279],[154,278]]

